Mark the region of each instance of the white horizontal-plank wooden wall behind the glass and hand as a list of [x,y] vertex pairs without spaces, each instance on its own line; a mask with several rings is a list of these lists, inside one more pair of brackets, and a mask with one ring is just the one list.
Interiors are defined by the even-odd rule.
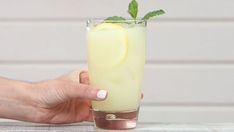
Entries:
[[[87,18],[126,16],[130,0],[0,0],[0,75],[54,78],[86,67]],[[234,121],[234,1],[138,0],[148,24],[141,121]]]

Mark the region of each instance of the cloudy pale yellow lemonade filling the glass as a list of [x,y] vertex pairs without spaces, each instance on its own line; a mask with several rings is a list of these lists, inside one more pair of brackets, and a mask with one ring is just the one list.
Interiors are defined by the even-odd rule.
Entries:
[[107,90],[108,97],[93,101],[93,109],[137,110],[145,63],[145,27],[136,24],[121,30],[94,29],[89,27],[87,33],[90,84]]

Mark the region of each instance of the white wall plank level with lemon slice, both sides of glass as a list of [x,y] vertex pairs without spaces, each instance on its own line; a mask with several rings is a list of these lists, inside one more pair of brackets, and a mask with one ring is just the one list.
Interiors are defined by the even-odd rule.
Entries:
[[[148,61],[234,60],[232,22],[151,22]],[[85,21],[0,22],[0,61],[85,61]]]

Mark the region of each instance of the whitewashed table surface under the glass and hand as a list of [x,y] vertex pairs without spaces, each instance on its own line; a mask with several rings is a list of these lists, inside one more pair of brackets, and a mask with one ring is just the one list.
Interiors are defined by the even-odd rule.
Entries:
[[[93,123],[77,123],[67,125],[47,125],[33,124],[26,122],[0,122],[0,132],[93,132],[106,131],[97,130]],[[153,131],[153,132],[234,132],[234,123],[196,123],[196,124],[178,124],[178,123],[139,123],[136,129],[129,131]]]

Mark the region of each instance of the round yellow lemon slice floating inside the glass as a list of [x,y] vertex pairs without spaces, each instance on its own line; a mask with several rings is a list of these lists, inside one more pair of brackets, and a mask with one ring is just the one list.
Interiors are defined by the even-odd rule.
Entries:
[[128,53],[127,31],[117,24],[102,23],[88,32],[89,63],[99,69],[122,64]]

